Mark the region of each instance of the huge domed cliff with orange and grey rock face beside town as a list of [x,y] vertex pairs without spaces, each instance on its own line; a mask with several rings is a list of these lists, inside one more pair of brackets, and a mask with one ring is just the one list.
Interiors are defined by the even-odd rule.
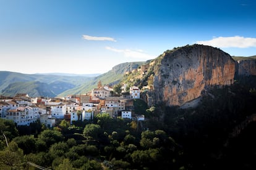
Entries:
[[155,60],[154,103],[183,105],[197,99],[206,87],[230,85],[236,62],[210,46],[193,45],[166,51]]

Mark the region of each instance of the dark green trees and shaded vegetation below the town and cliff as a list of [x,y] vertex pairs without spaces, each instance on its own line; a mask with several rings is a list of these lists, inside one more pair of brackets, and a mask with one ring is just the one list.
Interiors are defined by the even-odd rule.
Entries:
[[207,89],[197,108],[134,100],[140,122],[102,114],[46,129],[0,119],[0,169],[255,169],[256,81],[247,79]]

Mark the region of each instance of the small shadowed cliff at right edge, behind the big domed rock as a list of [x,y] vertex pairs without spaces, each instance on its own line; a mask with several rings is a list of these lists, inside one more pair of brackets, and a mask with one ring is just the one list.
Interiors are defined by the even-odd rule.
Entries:
[[256,76],[256,60],[237,60],[237,76]]

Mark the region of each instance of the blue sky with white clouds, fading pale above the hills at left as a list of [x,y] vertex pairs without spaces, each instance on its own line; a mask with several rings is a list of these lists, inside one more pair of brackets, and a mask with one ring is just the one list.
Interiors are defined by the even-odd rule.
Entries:
[[106,73],[187,44],[256,55],[254,0],[0,0],[0,71]]

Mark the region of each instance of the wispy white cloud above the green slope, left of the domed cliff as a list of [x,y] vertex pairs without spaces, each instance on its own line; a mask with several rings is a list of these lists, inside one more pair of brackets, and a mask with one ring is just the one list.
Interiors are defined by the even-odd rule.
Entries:
[[124,54],[126,57],[132,57],[135,59],[154,59],[155,56],[145,54],[142,50],[130,50],[130,49],[115,49],[113,47],[105,47],[105,49],[108,49],[109,51],[119,52]]

